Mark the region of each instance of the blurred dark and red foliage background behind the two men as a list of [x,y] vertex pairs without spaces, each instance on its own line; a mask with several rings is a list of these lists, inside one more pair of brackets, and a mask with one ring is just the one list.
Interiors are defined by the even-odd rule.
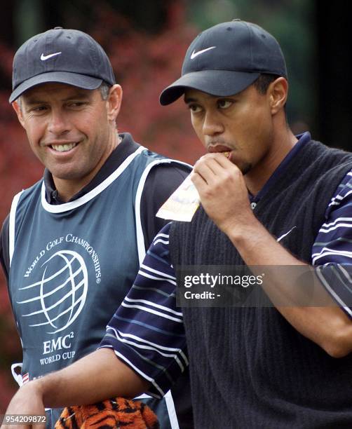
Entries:
[[[99,3],[99,4],[97,4]],[[8,104],[15,50],[55,26],[81,29],[107,51],[124,90],[120,131],[167,156],[193,163],[203,154],[182,101],[158,105],[177,79],[184,53],[199,31],[241,18],[262,25],[283,48],[289,72],[287,118],[296,133],[310,130],[329,146],[350,150],[352,38],[347,1],[304,0],[17,0],[0,14],[0,221],[15,193],[43,168]],[[16,385],[10,365],[20,362],[6,284],[0,282],[0,414]]]

